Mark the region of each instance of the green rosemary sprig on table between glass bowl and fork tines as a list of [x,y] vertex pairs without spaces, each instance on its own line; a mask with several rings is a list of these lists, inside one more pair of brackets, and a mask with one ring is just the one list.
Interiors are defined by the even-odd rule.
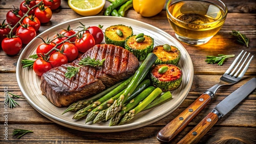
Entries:
[[206,56],[206,62],[210,64],[214,64],[218,62],[218,65],[222,65],[225,59],[234,57],[234,55],[223,55],[218,54],[218,57],[216,56]]

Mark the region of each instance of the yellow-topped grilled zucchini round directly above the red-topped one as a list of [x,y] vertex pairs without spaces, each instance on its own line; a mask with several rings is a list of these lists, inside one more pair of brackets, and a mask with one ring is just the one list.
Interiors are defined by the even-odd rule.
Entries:
[[155,64],[174,64],[178,65],[180,61],[180,51],[176,46],[169,45],[170,50],[164,50],[164,45],[154,47],[153,53],[157,55]]

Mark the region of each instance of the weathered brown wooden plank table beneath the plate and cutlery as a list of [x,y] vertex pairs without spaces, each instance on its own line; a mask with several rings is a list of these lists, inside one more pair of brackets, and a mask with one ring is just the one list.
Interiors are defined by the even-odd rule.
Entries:
[[[13,6],[19,6],[22,0],[0,0],[0,21],[5,19],[6,13]],[[8,109],[8,140],[4,139],[4,88],[17,95],[23,95],[20,92],[16,80],[16,64],[19,55],[7,56],[0,49],[0,143],[159,143],[157,133],[172,119],[179,115],[185,108],[193,103],[206,89],[219,82],[219,78],[229,67],[234,58],[224,62],[222,66],[217,64],[207,64],[205,56],[218,54],[235,54],[236,56],[245,50],[255,56],[256,54],[256,3],[253,1],[228,1],[224,3],[228,7],[228,15],[224,26],[208,43],[201,46],[189,46],[183,44],[188,51],[194,65],[194,80],[191,89],[183,103],[171,114],[161,120],[138,129],[112,132],[112,133],[93,133],[84,132],[60,126],[48,118],[38,113],[26,99],[15,99],[20,106]],[[110,3],[106,2],[103,12]],[[53,11],[51,21],[43,23],[39,33],[67,20],[82,17],[73,12],[67,1],[61,1],[61,7]],[[173,37],[174,30],[170,27],[166,12],[163,10],[154,17],[142,17],[133,9],[130,9],[126,17],[146,22],[158,27]],[[229,33],[232,30],[238,30],[249,38],[249,47],[236,42],[236,39]],[[25,46],[24,46],[25,47]],[[201,119],[222,101],[228,94],[236,90],[248,80],[255,77],[256,58],[254,57],[244,78],[232,86],[221,87],[212,100],[188,126],[176,136],[170,143],[177,143]],[[217,124],[212,127],[199,143],[256,143],[256,92],[249,95],[242,103],[231,110]],[[24,135],[18,139],[12,136],[14,128],[32,130],[34,133]]]

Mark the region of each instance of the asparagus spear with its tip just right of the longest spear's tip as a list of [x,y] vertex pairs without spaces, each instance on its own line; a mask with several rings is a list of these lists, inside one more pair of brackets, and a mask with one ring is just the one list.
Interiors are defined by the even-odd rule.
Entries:
[[143,101],[150,93],[155,89],[154,86],[150,86],[143,90],[137,97],[132,99],[127,105],[122,107],[122,110],[120,112],[117,112],[115,116],[111,117],[109,126],[114,126],[116,125],[121,116],[124,115],[126,112],[130,111],[134,107],[136,107],[141,101]]

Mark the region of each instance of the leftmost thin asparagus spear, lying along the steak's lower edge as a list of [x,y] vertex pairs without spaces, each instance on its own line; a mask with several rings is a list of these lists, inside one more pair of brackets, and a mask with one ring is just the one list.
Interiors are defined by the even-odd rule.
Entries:
[[116,88],[117,86],[119,86],[121,83],[123,83],[124,81],[117,83],[115,85],[113,85],[112,87],[103,90],[102,92],[94,95],[92,98],[86,99],[86,100],[81,100],[81,101],[77,101],[73,104],[71,104],[62,114],[68,112],[68,111],[78,111],[82,108],[87,107],[88,105],[90,105],[93,101],[100,99],[101,97],[103,97],[103,95],[109,93],[111,90],[113,90],[114,88]]

